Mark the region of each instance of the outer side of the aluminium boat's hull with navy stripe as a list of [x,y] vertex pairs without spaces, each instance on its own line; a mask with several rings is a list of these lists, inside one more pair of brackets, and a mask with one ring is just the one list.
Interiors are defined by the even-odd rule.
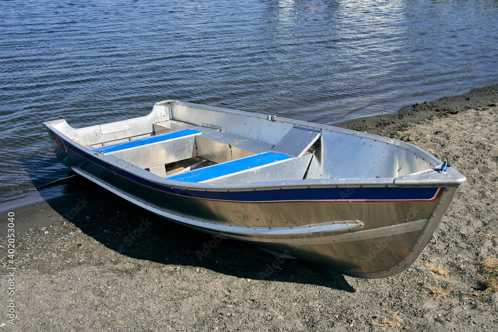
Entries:
[[361,278],[409,267],[456,191],[331,181],[192,187],[150,179],[147,171],[101,158],[62,132],[49,128],[49,134],[62,163],[158,216]]

